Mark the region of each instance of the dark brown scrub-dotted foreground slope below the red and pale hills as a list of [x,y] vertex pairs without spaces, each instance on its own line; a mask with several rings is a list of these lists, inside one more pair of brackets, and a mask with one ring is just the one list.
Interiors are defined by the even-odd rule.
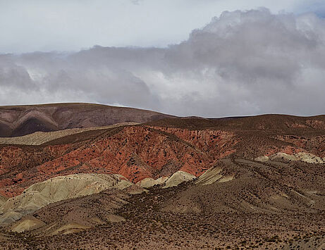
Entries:
[[224,158],[176,187],[155,186],[133,195],[106,190],[50,204],[8,227],[17,231],[34,222],[25,239],[6,232],[0,246],[321,249],[324,170],[322,164],[302,161]]

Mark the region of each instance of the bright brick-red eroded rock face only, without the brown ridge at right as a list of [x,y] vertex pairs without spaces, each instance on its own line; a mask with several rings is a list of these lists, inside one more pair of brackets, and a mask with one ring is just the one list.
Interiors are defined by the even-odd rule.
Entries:
[[78,146],[6,146],[0,193],[16,196],[35,182],[72,173],[117,173],[132,182],[178,170],[199,176],[231,154],[235,143],[233,133],[220,130],[130,126]]

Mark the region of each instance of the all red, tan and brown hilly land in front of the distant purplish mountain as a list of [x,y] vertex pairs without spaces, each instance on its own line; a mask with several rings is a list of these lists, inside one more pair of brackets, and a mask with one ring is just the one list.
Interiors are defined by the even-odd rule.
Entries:
[[1,248],[324,249],[325,115],[153,117],[1,138]]

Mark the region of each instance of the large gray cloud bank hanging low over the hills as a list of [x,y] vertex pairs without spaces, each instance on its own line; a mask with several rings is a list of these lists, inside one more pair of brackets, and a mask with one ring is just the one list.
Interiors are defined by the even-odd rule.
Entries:
[[224,12],[157,48],[0,55],[1,104],[88,101],[176,115],[325,113],[325,20]]

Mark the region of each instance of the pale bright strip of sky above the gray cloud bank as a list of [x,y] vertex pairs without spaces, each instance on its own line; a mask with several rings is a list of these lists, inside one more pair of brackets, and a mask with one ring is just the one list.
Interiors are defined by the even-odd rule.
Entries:
[[320,0],[0,0],[0,53],[164,47],[224,10],[259,6],[274,13],[325,9]]

